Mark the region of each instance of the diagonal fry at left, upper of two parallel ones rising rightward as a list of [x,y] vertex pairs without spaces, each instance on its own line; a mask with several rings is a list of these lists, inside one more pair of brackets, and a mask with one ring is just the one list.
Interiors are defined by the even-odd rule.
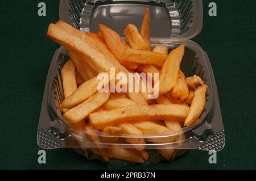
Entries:
[[[117,72],[118,70],[115,70],[115,73]],[[108,71],[107,74],[109,76],[109,81],[110,81],[110,71]],[[98,91],[98,84],[100,82],[101,80],[99,80],[98,77],[89,79],[89,81],[86,81],[85,83],[83,83],[75,92],[73,92],[71,96],[65,99],[61,103],[61,107],[73,108],[78,104],[84,102],[86,99],[88,99],[90,96],[92,96]]]

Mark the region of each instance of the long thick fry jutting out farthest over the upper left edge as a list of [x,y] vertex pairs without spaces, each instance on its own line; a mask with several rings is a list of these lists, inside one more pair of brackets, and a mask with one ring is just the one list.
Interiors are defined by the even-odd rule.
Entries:
[[[82,33],[85,35],[84,33]],[[112,62],[104,56],[104,54],[100,53],[98,50],[92,48],[88,43],[82,41],[76,36],[64,31],[59,26],[55,24],[50,24],[48,27],[47,36],[66,47],[67,49],[73,49],[77,52],[82,53],[84,56],[88,57],[88,60],[91,64],[95,66],[100,71],[108,71],[111,68],[116,68]],[[85,35],[86,36],[86,35]]]

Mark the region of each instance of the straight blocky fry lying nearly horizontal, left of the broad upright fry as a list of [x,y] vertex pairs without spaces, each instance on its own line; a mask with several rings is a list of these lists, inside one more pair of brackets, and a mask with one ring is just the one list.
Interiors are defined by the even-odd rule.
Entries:
[[128,48],[123,52],[121,60],[137,64],[152,64],[156,66],[163,66],[167,57],[168,56],[166,54]]

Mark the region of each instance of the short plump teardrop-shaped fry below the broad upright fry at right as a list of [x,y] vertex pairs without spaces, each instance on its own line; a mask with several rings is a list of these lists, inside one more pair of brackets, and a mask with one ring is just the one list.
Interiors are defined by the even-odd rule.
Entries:
[[178,100],[185,100],[189,96],[187,83],[181,74],[178,75],[177,82],[174,88],[172,88],[172,96]]

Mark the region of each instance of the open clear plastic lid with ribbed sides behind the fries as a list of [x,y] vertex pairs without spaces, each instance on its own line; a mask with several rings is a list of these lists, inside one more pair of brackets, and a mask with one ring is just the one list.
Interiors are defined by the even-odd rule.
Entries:
[[141,28],[146,6],[151,37],[192,39],[202,30],[202,0],[60,0],[60,20],[83,32],[97,32],[101,23],[123,35],[129,23]]

